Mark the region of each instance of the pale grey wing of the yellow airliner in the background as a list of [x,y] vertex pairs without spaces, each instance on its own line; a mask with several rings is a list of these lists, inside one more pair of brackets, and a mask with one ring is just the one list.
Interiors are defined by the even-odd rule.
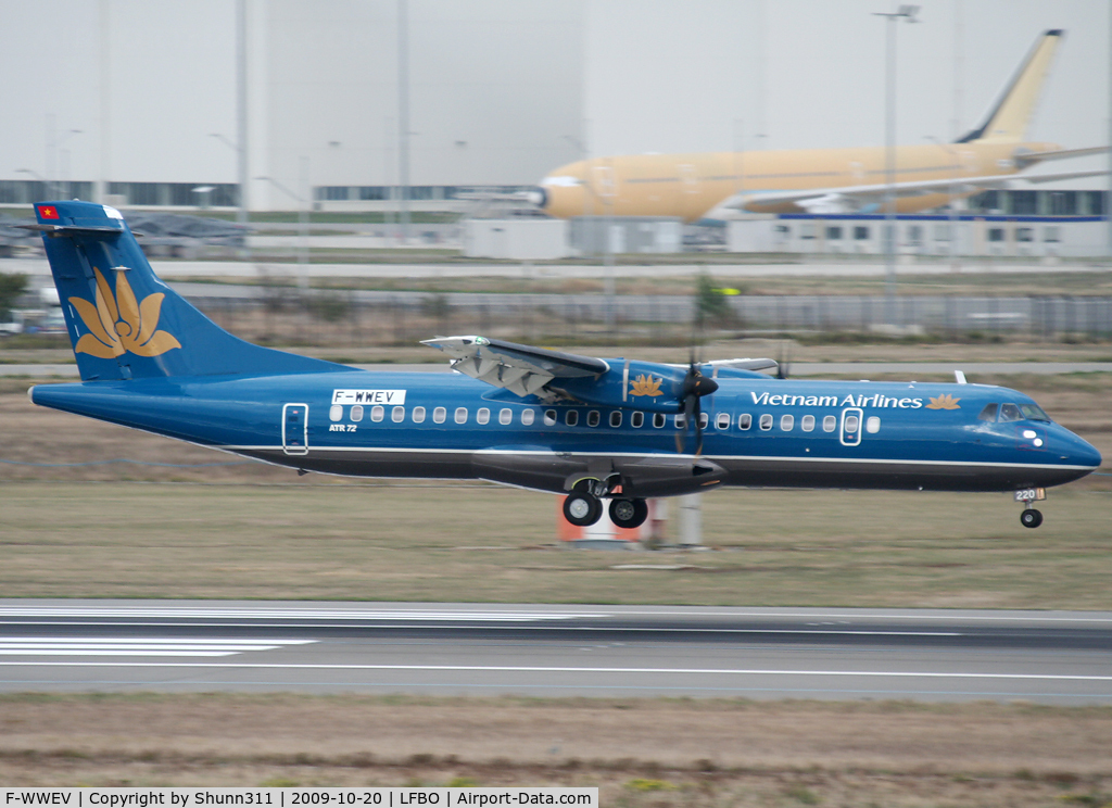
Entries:
[[[956,177],[942,180],[913,180],[891,186],[895,197],[920,197],[930,193],[965,194],[992,188],[1005,188],[1014,180],[1027,182],[1053,182],[1055,180],[1098,177],[1108,171],[1068,171],[1036,174],[1032,177],[1003,174],[990,177]],[[874,182],[867,186],[843,186],[841,188],[806,188],[791,191],[743,191],[721,202],[708,218],[721,218],[716,213],[761,212],[763,208],[785,202],[795,205],[807,213],[854,213],[875,212],[888,192],[888,184]]]

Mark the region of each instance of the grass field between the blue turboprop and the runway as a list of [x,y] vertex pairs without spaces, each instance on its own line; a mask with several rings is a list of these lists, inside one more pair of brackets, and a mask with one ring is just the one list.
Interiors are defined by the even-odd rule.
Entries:
[[712,550],[636,558],[559,548],[556,497],[484,485],[8,482],[0,498],[4,597],[1112,609],[1104,491],[1055,492],[1039,531],[1004,495],[725,491],[704,498]]

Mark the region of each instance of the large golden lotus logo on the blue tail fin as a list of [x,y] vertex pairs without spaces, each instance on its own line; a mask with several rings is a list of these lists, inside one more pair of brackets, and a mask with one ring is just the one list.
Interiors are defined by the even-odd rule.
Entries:
[[148,295],[139,302],[128,279],[117,272],[113,297],[100,270],[95,268],[92,271],[97,276],[97,305],[83,298],[69,299],[89,329],[89,333],[77,341],[75,352],[100,359],[113,359],[125,352],[157,357],[181,347],[172,333],[156,330],[166,297],[162,292]]

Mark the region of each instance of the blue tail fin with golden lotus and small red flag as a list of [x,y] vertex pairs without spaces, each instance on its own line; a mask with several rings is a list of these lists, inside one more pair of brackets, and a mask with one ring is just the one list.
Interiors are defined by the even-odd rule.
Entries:
[[155,275],[123,217],[81,201],[38,202],[50,271],[83,381],[336,370],[245,342]]

